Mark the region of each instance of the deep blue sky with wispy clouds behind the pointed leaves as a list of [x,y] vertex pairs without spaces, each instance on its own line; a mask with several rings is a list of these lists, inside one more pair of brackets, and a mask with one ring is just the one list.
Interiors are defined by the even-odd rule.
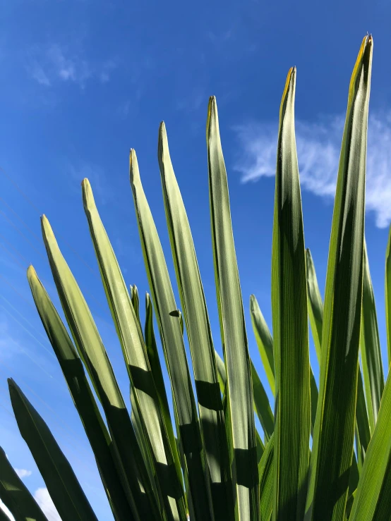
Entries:
[[[198,1],[191,6],[1,0],[0,5],[0,445],[47,509],[49,520],[58,519],[11,415],[6,377],[12,376],[49,424],[99,519],[111,520],[88,441],[25,277],[32,263],[59,306],[40,235],[40,214],[48,216],[85,292],[128,399],[80,181],[90,179],[126,282],[136,283],[143,299],[148,283],[128,182],[128,151],[134,147],[138,154],[174,275],[157,164],[157,130],[164,119],[220,350],[205,147],[207,100],[215,94],[249,345],[263,375],[248,298],[255,293],[271,325],[273,176],[287,71],[297,66],[304,231],[323,290],[349,78],[361,39],[372,32],[366,240],[386,361],[383,274],[391,221],[391,5],[385,0]],[[315,357],[313,362],[316,367]]]

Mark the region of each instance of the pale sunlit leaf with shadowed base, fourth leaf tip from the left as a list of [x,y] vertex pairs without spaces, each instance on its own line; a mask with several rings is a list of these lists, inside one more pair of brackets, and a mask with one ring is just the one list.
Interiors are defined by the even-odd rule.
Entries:
[[[97,397],[102,403],[109,432],[114,442],[114,453],[121,472],[121,481],[131,504],[133,515],[141,519],[160,520],[160,508],[153,493],[143,455],[124,398],[117,384],[112,364],[97,331],[87,302],[71,270],[61,255],[56,238],[45,216],[42,216],[42,234],[57,292],[66,321],[83,360]],[[148,517],[149,516],[149,517]]]

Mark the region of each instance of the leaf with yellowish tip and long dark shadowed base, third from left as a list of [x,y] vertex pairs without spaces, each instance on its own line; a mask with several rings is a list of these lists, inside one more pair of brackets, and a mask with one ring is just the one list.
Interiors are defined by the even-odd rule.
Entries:
[[83,363],[59,314],[56,312],[56,308],[32,266],[28,269],[28,283],[42,324],[68,384],[73,403],[83,422],[116,520],[133,519],[121,480],[116,472],[112,455],[112,439],[107,432],[107,427],[100,415],[90,384],[85,377]]

